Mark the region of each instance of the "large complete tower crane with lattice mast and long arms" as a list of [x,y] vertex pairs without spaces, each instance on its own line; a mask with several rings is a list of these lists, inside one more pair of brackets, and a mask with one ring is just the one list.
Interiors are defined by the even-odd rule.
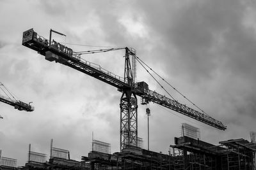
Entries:
[[[124,78],[117,76],[99,65],[81,59],[83,53],[108,52],[118,50],[115,48],[107,50],[93,50],[87,52],[73,52],[61,43],[51,39],[51,33],[63,35],[60,32],[50,31],[50,38],[40,36],[33,29],[23,32],[22,45],[35,50],[40,55],[44,55],[46,60],[55,61],[77,71],[93,76],[100,81],[116,87],[122,93],[120,97],[120,150],[127,146],[138,146],[138,99],[140,96],[145,103],[154,102],[170,110],[177,111],[183,115],[194,118],[204,124],[211,125],[217,129],[225,130],[227,127],[219,120],[216,120],[204,112],[199,112],[189,108],[185,104],[178,103],[155,91],[148,89],[148,84],[144,81],[134,82],[134,74],[131,68],[130,57],[136,57],[135,50],[132,48],[122,48],[125,50],[125,69]],[[120,48],[119,48],[120,49]]]

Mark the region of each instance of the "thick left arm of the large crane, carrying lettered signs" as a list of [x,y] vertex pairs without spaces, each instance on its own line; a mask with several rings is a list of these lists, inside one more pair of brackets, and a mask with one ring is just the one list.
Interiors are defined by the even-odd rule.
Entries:
[[61,45],[54,40],[49,45],[49,40],[37,34],[33,29],[25,31],[23,35],[22,45],[44,55],[46,60],[59,62],[77,69],[120,90],[131,89],[131,85],[125,83],[125,78],[117,76],[97,64],[82,60],[79,54],[74,53],[71,48]]

